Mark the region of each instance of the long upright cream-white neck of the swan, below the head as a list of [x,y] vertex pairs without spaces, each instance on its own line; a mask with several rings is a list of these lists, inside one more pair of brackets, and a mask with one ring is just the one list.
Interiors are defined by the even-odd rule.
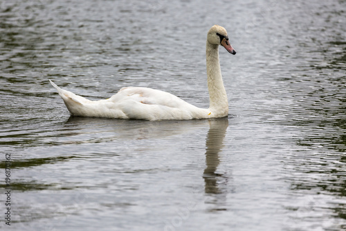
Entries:
[[206,45],[207,76],[210,107],[209,110],[217,117],[228,115],[228,99],[224,82],[222,81],[221,68],[219,62],[219,46]]

